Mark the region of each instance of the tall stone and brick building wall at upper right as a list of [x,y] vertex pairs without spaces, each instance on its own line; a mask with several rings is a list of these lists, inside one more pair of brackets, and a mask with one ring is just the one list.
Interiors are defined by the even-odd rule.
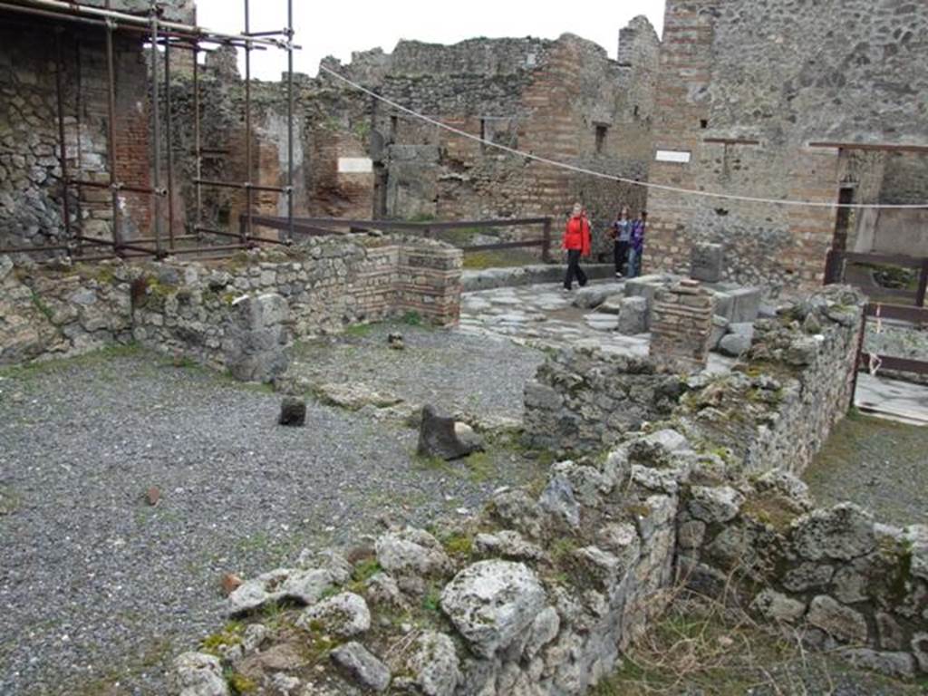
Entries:
[[[768,198],[834,202],[841,155],[815,141],[928,145],[928,6],[881,0],[670,3],[658,80],[651,181]],[[704,127],[703,127],[704,126]],[[748,138],[759,146],[703,138]],[[724,244],[726,277],[820,284],[835,213],[651,193],[652,263],[681,270],[697,242]]]

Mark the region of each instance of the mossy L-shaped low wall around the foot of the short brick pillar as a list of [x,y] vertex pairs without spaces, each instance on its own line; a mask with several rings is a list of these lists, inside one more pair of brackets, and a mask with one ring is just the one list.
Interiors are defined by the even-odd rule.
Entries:
[[752,347],[729,375],[564,351],[525,387],[525,436],[566,453],[598,452],[644,421],[666,420],[745,470],[799,473],[851,406],[863,303],[830,286],[784,305],[755,323]]

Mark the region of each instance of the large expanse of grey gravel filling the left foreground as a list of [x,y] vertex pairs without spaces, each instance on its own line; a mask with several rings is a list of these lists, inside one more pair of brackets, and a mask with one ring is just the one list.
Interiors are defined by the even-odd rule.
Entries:
[[[521,403],[505,347],[406,333],[433,358],[371,366],[397,391],[412,360],[415,381]],[[144,353],[0,372],[0,693],[164,693],[165,665],[222,621],[222,574],[356,540],[383,513],[423,524],[473,509],[543,473],[516,450],[428,466],[411,430],[313,403],[306,428],[280,428],[278,405]]]

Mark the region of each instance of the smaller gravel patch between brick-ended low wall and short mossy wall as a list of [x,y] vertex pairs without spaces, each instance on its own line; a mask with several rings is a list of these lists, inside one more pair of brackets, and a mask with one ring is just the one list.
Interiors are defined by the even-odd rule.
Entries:
[[[394,332],[403,335],[405,350],[387,346],[387,336]],[[448,413],[522,420],[522,387],[544,358],[541,351],[502,337],[371,324],[302,343],[290,374],[316,383],[360,382]]]

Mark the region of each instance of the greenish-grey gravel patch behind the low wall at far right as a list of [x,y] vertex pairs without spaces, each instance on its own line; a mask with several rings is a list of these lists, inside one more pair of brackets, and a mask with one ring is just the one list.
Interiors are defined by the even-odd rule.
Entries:
[[850,500],[877,520],[928,523],[928,427],[852,414],[838,423],[803,478],[822,505]]

